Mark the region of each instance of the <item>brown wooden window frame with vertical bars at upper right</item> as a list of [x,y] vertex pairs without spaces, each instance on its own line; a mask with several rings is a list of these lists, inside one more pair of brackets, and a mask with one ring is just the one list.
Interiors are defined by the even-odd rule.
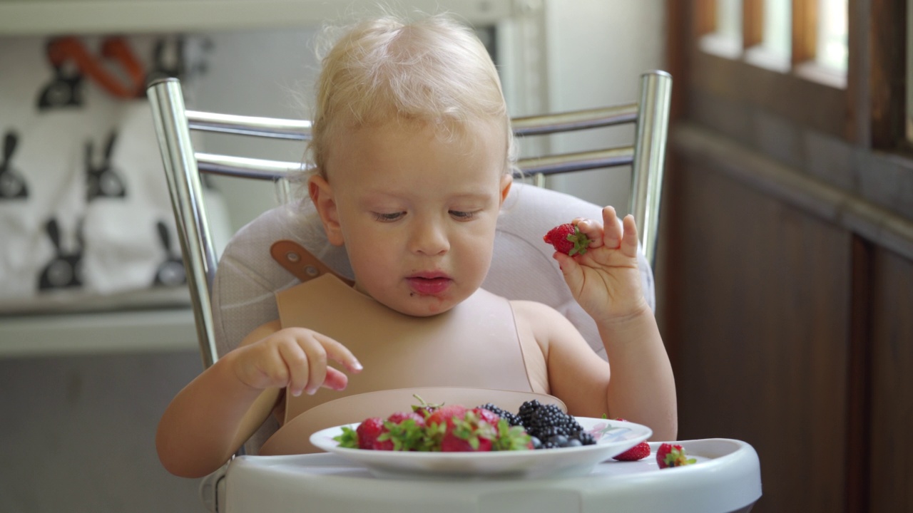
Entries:
[[[725,52],[718,54],[702,47],[702,40],[706,41],[716,26],[716,0],[692,0],[688,3],[689,10],[678,11],[690,20],[687,24],[691,32],[687,37],[687,48],[684,52],[682,49],[676,51],[689,62],[690,71],[685,79],[690,87],[733,101],[747,102],[804,128],[866,147],[897,149],[899,141],[906,142],[906,115],[892,119],[897,118],[892,110],[906,112],[906,109],[897,109],[896,86],[878,98],[869,94],[881,89],[877,80],[884,73],[893,72],[897,78],[896,70],[892,71],[896,68],[897,56],[878,55],[892,41],[898,41],[897,35],[879,37],[875,33],[869,37],[871,41],[859,37],[870,34],[868,26],[879,26],[875,24],[897,16],[896,1],[848,0],[848,60],[845,87],[842,88],[834,87],[833,81],[814,79],[813,74],[807,72],[807,68],[815,66],[817,0],[792,0],[793,44],[789,70],[785,72],[775,67],[759,66],[753,59],[745,58],[746,50],[757,47],[761,41],[763,4],[762,0],[742,2],[742,52],[738,58],[729,58]],[[858,16],[860,11],[865,11],[865,16]],[[906,9],[903,14],[906,14]],[[796,41],[799,44],[795,44]],[[906,41],[900,46],[905,47]],[[905,73],[900,77],[906,77]],[[900,92],[903,94],[899,105],[905,107],[906,91]],[[679,106],[679,109],[686,108]]]

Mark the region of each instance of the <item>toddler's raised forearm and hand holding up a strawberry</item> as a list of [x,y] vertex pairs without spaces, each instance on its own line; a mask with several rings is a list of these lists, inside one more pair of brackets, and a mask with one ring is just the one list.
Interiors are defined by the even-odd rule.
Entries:
[[[620,225],[614,208],[608,206],[603,209],[602,224],[591,220],[575,224],[591,239],[588,250],[574,257],[556,252],[554,257],[574,298],[596,321],[608,354],[612,369],[606,391],[608,414],[648,425],[654,440],[675,440],[675,380],[656,318],[644,298],[634,217],[625,216]],[[553,356],[559,358],[564,351],[573,351],[571,347],[555,347],[559,352]],[[572,355],[561,360],[572,360]]]

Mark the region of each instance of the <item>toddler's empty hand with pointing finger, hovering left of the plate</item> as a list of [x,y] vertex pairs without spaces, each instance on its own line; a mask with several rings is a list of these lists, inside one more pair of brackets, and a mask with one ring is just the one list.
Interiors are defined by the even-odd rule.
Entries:
[[313,394],[320,386],[346,387],[348,377],[327,365],[330,360],[349,372],[362,371],[362,364],[340,342],[307,328],[278,330],[232,353],[232,367],[240,382],[257,390],[285,387],[296,396]]

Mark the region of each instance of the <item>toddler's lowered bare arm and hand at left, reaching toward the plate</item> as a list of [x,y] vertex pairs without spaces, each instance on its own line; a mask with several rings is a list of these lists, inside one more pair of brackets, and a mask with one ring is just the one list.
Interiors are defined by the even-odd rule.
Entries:
[[294,395],[320,386],[345,388],[346,375],[328,360],[361,371],[349,350],[320,333],[280,330],[278,321],[257,328],[168,405],[155,436],[163,466],[177,476],[206,476],[263,424],[282,388]]

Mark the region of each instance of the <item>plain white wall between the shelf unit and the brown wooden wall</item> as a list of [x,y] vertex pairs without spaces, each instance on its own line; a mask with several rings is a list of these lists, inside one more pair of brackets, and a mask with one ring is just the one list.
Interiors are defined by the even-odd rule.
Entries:
[[[637,99],[640,74],[665,66],[663,7],[661,0],[547,1],[550,109],[587,109]],[[584,151],[605,140],[630,144],[633,137],[631,127],[564,134],[552,140],[551,149]],[[630,166],[625,166],[556,176],[549,186],[627,212],[630,173]]]

